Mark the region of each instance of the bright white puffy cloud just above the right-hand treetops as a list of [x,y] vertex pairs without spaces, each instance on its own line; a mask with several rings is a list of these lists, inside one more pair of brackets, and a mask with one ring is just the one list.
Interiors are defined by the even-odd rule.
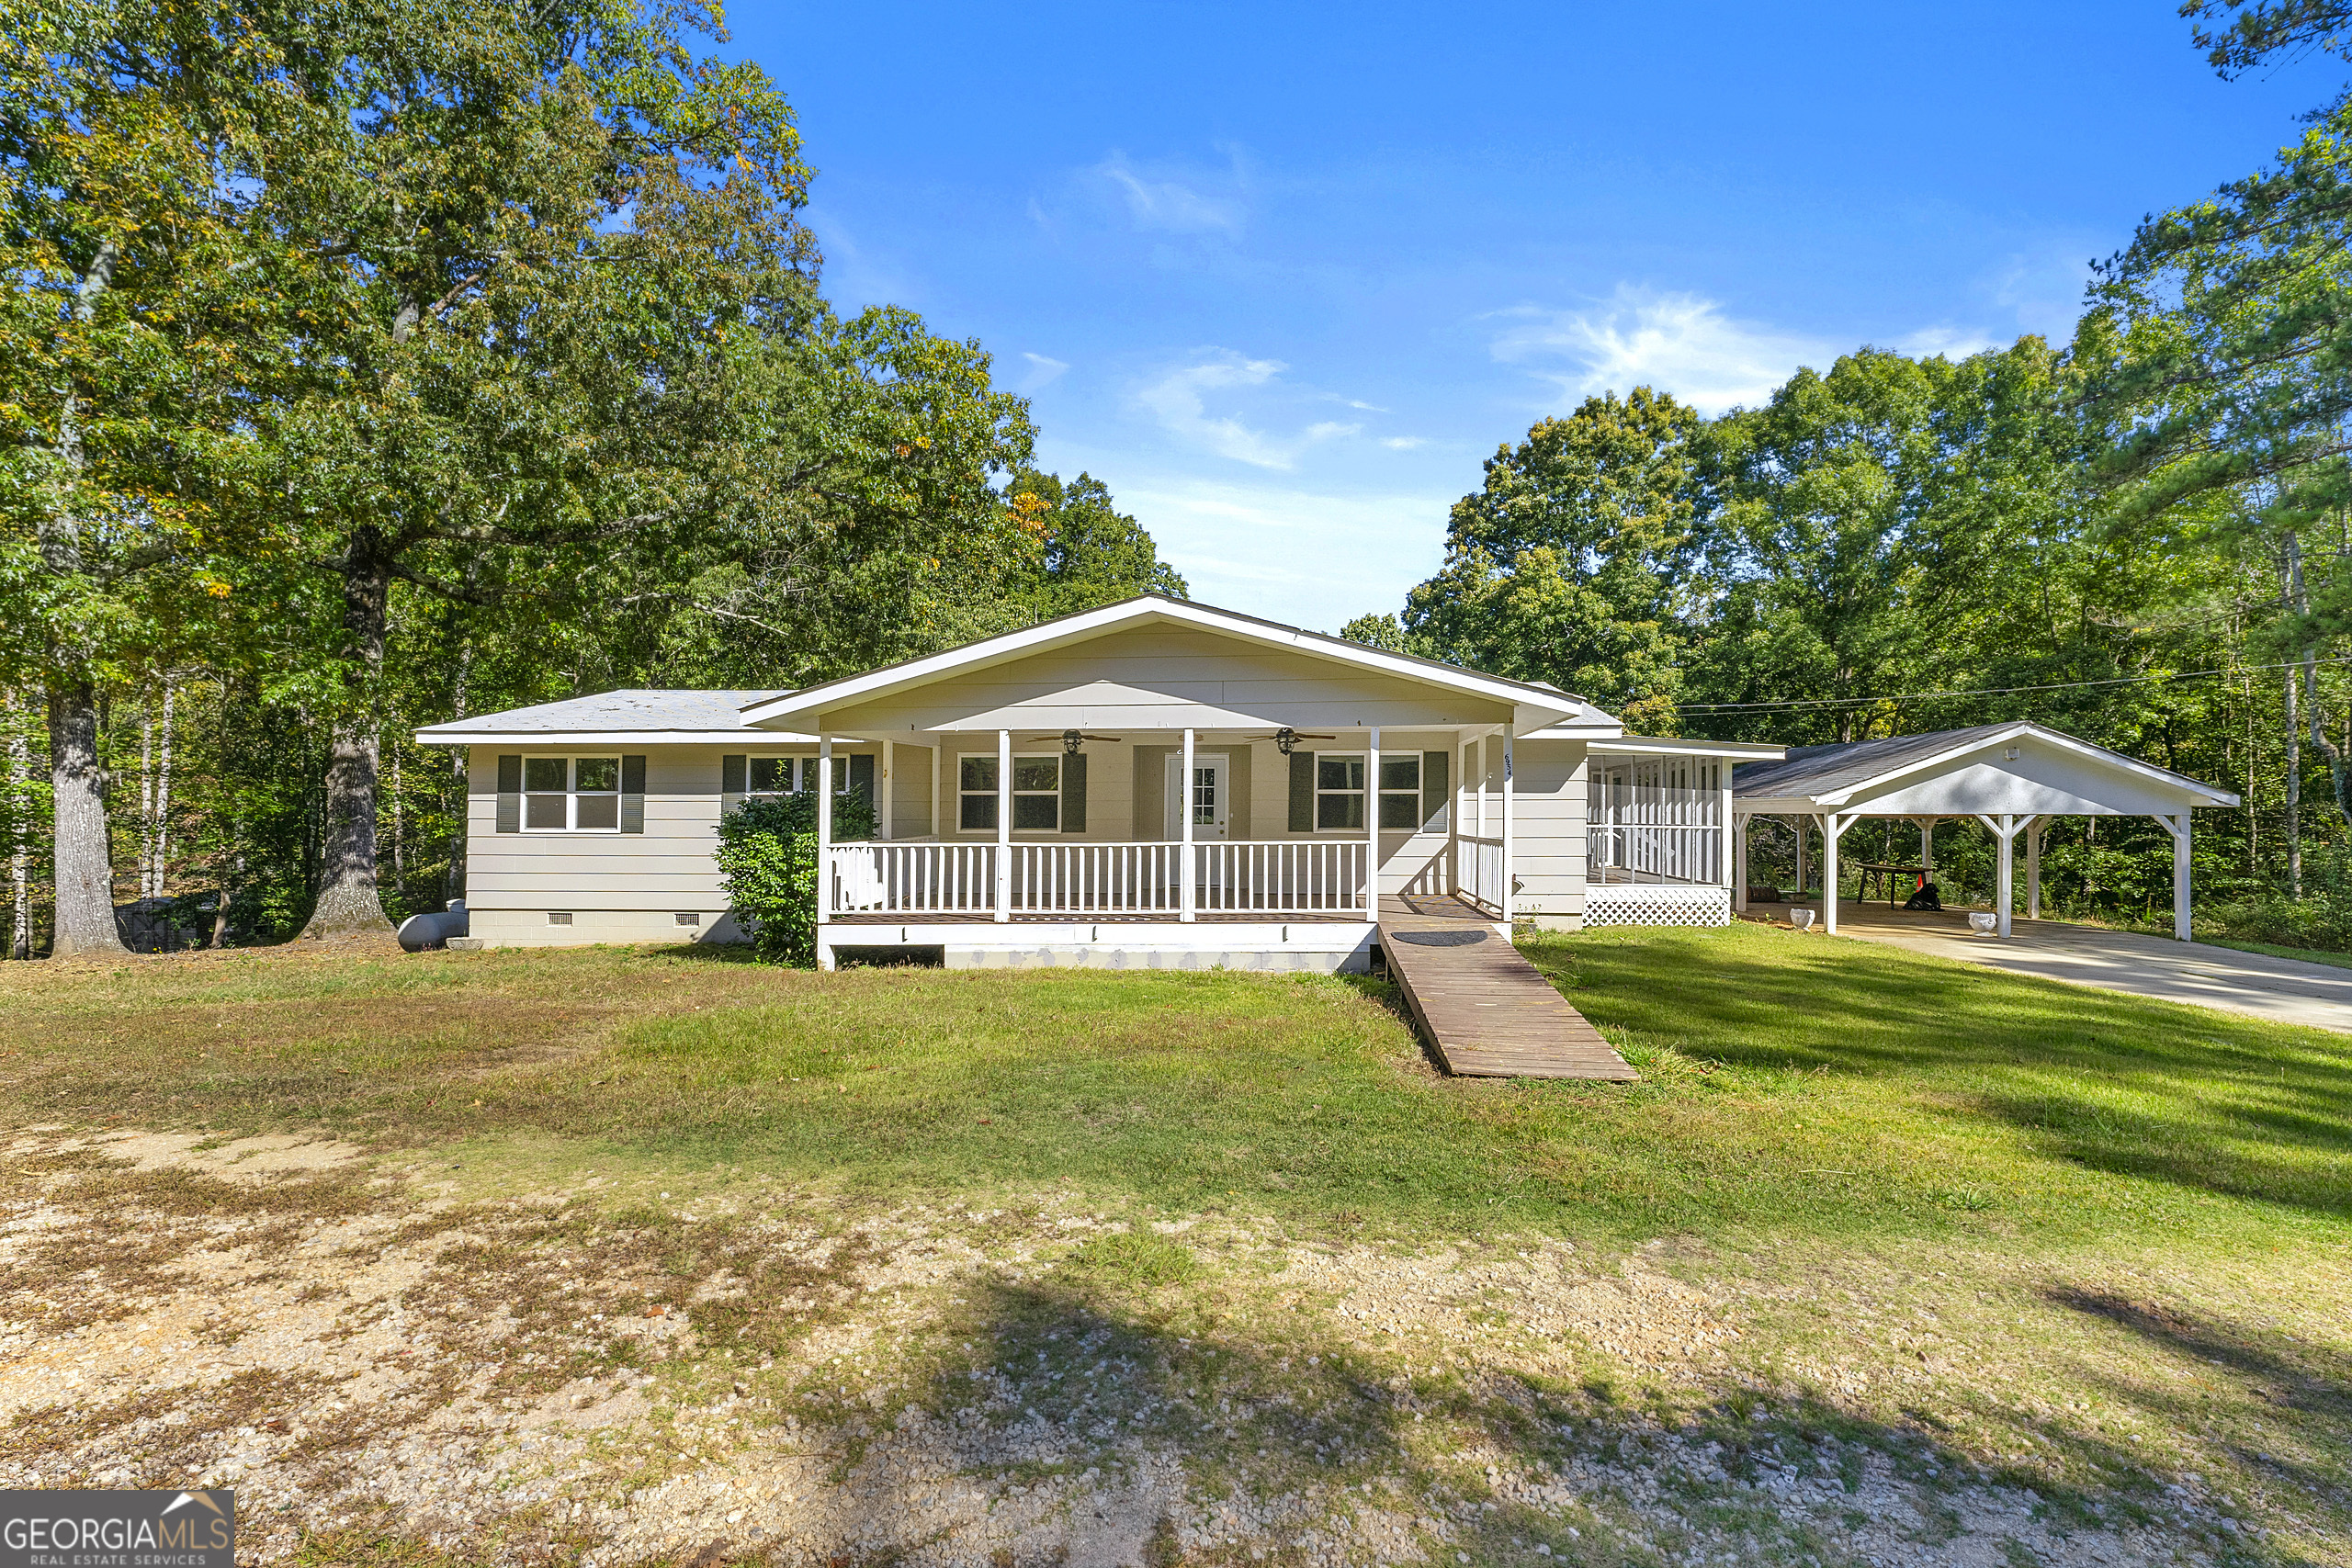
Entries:
[[1759,322],[1724,315],[1698,294],[1656,294],[1618,284],[1590,310],[1505,313],[1515,317],[1494,341],[1505,362],[1564,362],[1541,369],[1569,397],[1630,393],[1653,386],[1705,414],[1759,404],[1804,362],[1828,362],[1837,348]]

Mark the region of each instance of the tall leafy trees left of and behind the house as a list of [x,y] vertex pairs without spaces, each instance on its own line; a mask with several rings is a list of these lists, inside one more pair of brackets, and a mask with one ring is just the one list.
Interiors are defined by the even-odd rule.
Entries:
[[793,110],[722,40],[640,0],[0,26],[14,957],[437,907],[463,780],[419,722],[1183,592],[978,343],[826,303]]

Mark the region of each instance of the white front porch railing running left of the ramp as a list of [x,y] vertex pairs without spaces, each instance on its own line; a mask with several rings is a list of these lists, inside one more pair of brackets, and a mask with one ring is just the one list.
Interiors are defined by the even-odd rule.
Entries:
[[[1355,839],[1192,846],[1202,914],[1359,914],[1367,844]],[[1014,844],[1011,912],[1070,919],[1178,919],[1183,844]],[[995,914],[995,844],[835,844],[833,914]]]

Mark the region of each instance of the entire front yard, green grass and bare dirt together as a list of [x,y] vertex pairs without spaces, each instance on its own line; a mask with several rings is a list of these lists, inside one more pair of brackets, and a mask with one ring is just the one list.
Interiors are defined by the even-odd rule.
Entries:
[[2352,1561],[2347,1041],[1531,957],[1642,1084],[1338,980],[0,966],[0,1483],[306,1563]]

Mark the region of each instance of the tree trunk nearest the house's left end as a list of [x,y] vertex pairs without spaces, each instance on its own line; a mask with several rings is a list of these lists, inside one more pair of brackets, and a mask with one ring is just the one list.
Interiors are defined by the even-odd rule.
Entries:
[[296,940],[329,936],[390,936],[376,893],[376,677],[393,595],[393,562],[383,534],[355,529],[343,552],[343,701],[327,752],[327,837],[318,907]]

